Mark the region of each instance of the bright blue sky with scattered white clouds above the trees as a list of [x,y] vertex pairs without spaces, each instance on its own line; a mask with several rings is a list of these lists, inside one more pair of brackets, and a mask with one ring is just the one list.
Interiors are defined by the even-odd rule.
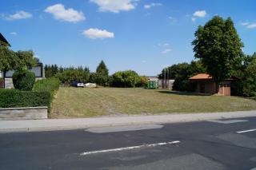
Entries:
[[246,54],[256,51],[254,0],[2,0],[0,33],[11,49],[44,64],[155,76],[194,60],[194,32],[214,15],[231,17]]

